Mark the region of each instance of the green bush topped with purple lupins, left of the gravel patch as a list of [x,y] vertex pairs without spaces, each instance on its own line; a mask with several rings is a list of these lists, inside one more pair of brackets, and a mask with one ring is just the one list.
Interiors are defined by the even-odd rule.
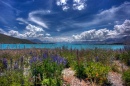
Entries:
[[43,84],[45,86],[61,86],[61,71],[66,65],[66,60],[58,55],[51,57],[32,57],[31,71],[32,75],[37,77],[34,84]]

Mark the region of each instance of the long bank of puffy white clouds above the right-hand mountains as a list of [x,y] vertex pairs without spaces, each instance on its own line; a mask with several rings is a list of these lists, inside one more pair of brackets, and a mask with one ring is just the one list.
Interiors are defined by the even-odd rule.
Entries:
[[125,20],[121,25],[115,25],[113,30],[92,29],[84,31],[81,34],[72,35],[75,40],[100,40],[103,41],[108,38],[117,38],[130,35],[130,20]]

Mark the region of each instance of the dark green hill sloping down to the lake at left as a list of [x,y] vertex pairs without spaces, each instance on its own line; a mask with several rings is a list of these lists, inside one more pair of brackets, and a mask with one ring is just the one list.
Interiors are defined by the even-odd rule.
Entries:
[[31,42],[27,39],[19,39],[11,36],[7,36],[0,33],[0,43],[6,43],[6,44],[34,44],[34,42]]

